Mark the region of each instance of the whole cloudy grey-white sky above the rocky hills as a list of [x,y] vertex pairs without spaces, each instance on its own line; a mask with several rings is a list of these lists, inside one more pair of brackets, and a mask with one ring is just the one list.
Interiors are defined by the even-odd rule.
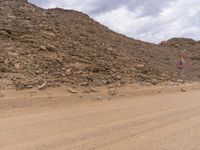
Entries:
[[200,40],[199,0],[29,0],[43,8],[82,11],[129,37],[159,43],[173,37]]

